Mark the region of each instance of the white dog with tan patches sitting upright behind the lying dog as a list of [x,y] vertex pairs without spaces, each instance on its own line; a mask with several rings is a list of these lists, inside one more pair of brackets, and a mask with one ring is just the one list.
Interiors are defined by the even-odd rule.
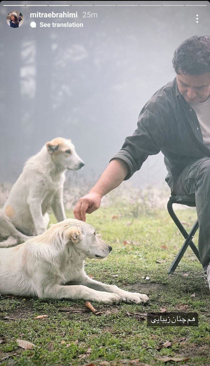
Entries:
[[70,140],[55,138],[47,142],[26,162],[11,189],[0,213],[0,237],[6,239],[12,235],[27,240],[27,236],[42,234],[49,221],[50,207],[57,221],[65,220],[64,172],[80,169],[83,165]]

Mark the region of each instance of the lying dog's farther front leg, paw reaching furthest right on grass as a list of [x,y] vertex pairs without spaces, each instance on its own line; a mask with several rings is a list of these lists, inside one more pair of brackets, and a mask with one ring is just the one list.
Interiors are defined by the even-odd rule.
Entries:
[[106,285],[105,283],[95,281],[88,276],[81,281],[81,284],[98,291],[113,292],[114,294],[120,296],[123,302],[128,304],[130,303],[140,304],[142,302],[147,302],[147,300],[149,300],[149,297],[145,294],[139,294],[138,292],[128,292],[125,290],[121,290],[121,288],[117,287],[116,285]]

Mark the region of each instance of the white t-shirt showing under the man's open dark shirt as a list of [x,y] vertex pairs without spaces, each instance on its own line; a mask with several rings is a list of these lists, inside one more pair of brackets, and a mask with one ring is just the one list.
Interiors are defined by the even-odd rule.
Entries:
[[210,97],[203,103],[189,103],[194,109],[200,130],[203,135],[203,143],[210,149]]

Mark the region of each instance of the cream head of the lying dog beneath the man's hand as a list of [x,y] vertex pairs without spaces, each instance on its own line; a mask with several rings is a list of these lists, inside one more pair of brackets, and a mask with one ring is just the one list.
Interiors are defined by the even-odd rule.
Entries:
[[84,257],[101,259],[112,250],[109,244],[98,237],[95,229],[83,221],[67,219],[56,225],[60,225],[59,235],[64,245],[73,246]]

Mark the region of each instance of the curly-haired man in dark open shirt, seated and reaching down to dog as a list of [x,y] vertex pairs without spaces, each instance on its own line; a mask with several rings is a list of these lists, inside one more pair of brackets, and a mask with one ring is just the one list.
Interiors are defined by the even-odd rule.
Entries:
[[74,216],[85,221],[106,193],[161,151],[172,195],[195,197],[199,255],[210,286],[210,37],[183,41],[172,63],[175,79],[144,105],[134,134],[126,137],[95,186],[79,199]]

